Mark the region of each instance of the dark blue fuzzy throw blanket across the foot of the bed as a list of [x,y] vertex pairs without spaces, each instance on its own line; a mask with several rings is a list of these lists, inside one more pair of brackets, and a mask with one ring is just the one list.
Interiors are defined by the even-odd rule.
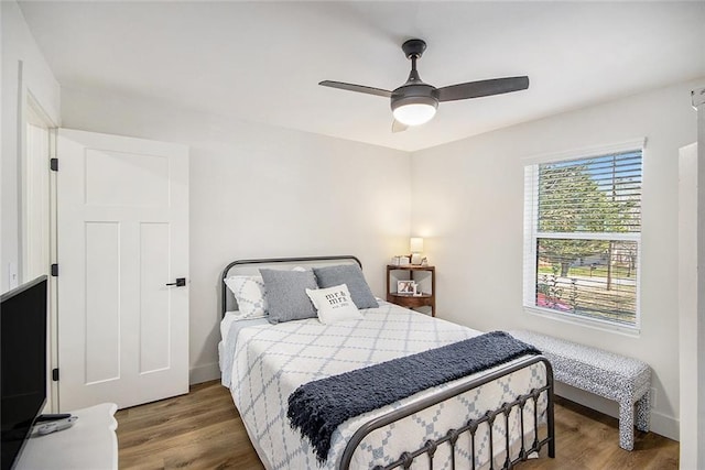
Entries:
[[524,354],[540,354],[505,331],[492,331],[437,349],[301,385],[289,397],[288,416],[308,438],[319,462],[333,431],[345,420],[422,390],[490,369]]

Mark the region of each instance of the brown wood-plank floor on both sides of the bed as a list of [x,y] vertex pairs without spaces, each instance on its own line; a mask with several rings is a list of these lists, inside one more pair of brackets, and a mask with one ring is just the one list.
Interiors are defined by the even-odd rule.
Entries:
[[[262,469],[232,398],[219,382],[187,395],[121,409],[120,469]],[[679,444],[637,433],[634,450],[619,448],[617,419],[556,398],[556,458],[528,461],[528,469],[677,469]],[[299,470],[299,469],[295,469]],[[302,469],[303,470],[303,469]]]

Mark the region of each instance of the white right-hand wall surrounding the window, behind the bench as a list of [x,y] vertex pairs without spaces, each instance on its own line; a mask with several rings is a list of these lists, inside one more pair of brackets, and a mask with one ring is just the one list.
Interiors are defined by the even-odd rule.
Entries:
[[[703,84],[703,80],[699,81]],[[675,85],[412,155],[412,231],[437,270],[442,318],[480,330],[525,328],[639,358],[653,369],[652,428],[677,437],[677,156],[696,140],[690,91]],[[522,310],[522,157],[648,139],[643,161],[638,338]],[[562,394],[617,415],[616,404]]]

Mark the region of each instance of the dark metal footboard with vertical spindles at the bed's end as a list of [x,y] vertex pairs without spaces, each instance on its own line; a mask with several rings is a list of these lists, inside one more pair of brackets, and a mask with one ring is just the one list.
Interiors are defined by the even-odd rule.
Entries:
[[[368,423],[364,424],[350,438],[347,447],[345,448],[345,451],[343,453],[338,468],[340,470],[349,469],[352,455],[357,450],[358,446],[360,445],[362,439],[365,439],[373,430],[388,426],[392,423],[395,423],[400,419],[411,416],[414,413],[435,406],[448,398],[460,395],[473,389],[477,389],[478,386],[481,386],[486,383],[489,383],[499,378],[508,375],[520,369],[529,368],[539,362],[542,362],[544,364],[545,371],[546,371],[546,380],[543,386],[531,390],[525,394],[521,394],[517,396],[513,401],[503,403],[501,406],[499,406],[496,409],[488,409],[480,417],[477,417],[475,419],[469,419],[464,426],[458,427],[457,429],[448,429],[445,436],[438,439],[430,439],[421,448],[417,448],[415,450],[404,451],[399,456],[399,458],[395,461],[387,466],[376,466],[373,467],[373,470],[391,470],[395,468],[408,469],[414,462],[414,459],[423,455],[427,456],[429,469],[433,470],[434,455],[440,446],[445,446],[445,445],[449,446],[449,449],[451,449],[451,468],[452,469],[455,469],[457,463],[458,468],[463,468],[463,469],[467,468],[467,469],[475,470],[476,468],[475,434],[478,427],[484,423],[487,423],[488,433],[489,433],[489,456],[490,456],[490,459],[488,462],[489,469],[494,470],[496,467],[495,467],[492,428],[494,428],[495,420],[498,418],[505,420],[503,441],[505,441],[506,458],[501,466],[502,469],[513,468],[517,463],[527,460],[532,452],[540,452],[543,446],[546,446],[546,445],[549,447],[549,457],[551,458],[555,457],[555,430],[554,430],[554,416],[553,416],[553,368],[551,367],[551,363],[549,362],[549,360],[545,359],[544,357],[531,356],[518,362],[513,362],[510,365],[507,365],[505,368],[500,368],[494,372],[490,372],[489,374],[479,376],[469,382],[454,385],[436,395],[429,396],[416,403],[412,403],[409,406],[394,409],[388,413],[387,415],[369,420]],[[546,435],[544,438],[539,437],[540,426],[539,426],[539,412],[538,412],[539,406],[538,405],[539,405],[539,398],[541,397],[542,394],[545,395],[546,397],[546,433],[545,433]],[[529,431],[529,429],[524,428],[524,407],[527,403],[531,403],[531,402],[533,402],[533,436],[534,438],[531,445],[527,447],[527,445],[524,444],[524,436]],[[520,416],[520,427],[521,427],[521,430],[520,430],[521,448],[519,449],[519,452],[517,453],[516,458],[511,457],[511,449],[510,449],[511,442],[510,442],[510,436],[509,436],[509,417],[513,409],[518,409],[518,413]],[[469,458],[469,460],[471,461],[456,462],[455,446],[458,440],[458,437],[465,433],[468,433],[471,439],[470,440],[471,452]]]

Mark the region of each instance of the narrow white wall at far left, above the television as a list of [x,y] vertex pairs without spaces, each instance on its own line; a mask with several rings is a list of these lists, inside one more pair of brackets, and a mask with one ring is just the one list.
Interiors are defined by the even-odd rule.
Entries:
[[19,239],[20,157],[23,151],[26,96],[32,94],[44,113],[59,123],[61,90],[14,1],[0,2],[2,44],[2,157],[0,225],[0,292],[10,288],[9,265],[21,263]]

